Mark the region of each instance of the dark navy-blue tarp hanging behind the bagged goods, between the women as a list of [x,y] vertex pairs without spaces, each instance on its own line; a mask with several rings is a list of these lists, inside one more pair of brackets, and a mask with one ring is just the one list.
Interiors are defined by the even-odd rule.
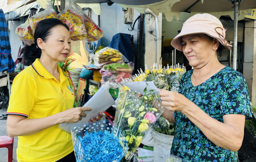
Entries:
[[129,60],[129,62],[133,62],[134,52],[131,44],[130,34],[118,33],[114,35],[108,47],[119,50],[120,53],[122,53],[126,59]]

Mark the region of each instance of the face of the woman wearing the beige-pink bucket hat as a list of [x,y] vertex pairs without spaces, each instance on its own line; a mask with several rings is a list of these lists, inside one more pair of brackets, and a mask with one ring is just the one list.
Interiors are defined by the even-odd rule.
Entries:
[[217,58],[216,50],[219,43],[216,39],[211,41],[205,34],[185,35],[181,39],[182,50],[190,66],[202,68]]

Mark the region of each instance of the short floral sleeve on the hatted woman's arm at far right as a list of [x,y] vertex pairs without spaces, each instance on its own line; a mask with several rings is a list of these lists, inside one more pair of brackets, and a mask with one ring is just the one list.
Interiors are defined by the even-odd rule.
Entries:
[[230,74],[224,79],[224,93],[222,95],[221,114],[242,114],[246,119],[252,118],[250,97],[245,77],[241,73]]

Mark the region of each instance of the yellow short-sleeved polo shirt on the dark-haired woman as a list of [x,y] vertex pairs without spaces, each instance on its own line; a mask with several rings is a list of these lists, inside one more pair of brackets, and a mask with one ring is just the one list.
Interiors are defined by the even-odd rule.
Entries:
[[[59,66],[58,71],[60,82],[37,59],[17,75],[11,87],[7,114],[38,119],[72,108],[75,96],[69,87],[68,76]],[[71,135],[58,126],[20,136],[17,161],[53,162],[74,151]]]

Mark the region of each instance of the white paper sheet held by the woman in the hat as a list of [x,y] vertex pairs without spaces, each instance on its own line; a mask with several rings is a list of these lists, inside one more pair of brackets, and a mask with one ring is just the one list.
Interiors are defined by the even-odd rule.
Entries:
[[137,93],[141,93],[142,95],[144,95],[144,89],[146,88],[147,84],[148,84],[148,89],[154,89],[156,94],[158,95],[160,90],[155,86],[154,82],[120,82],[121,85],[124,85],[134,91],[136,91]]

